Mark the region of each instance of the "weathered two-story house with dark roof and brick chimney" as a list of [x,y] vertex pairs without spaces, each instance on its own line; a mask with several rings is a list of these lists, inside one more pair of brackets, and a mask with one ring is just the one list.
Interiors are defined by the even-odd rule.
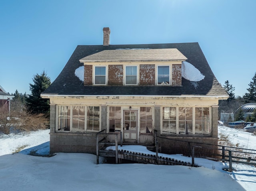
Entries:
[[[50,152],[96,152],[96,133],[177,153],[186,140],[217,145],[218,100],[228,95],[198,43],[78,45],[41,94],[50,98]],[[173,143],[170,143],[170,138]],[[111,140],[110,140],[111,141]]]

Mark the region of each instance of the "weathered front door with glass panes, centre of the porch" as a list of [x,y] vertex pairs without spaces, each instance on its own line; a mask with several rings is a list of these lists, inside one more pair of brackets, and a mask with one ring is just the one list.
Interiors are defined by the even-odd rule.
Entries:
[[138,110],[123,111],[123,139],[126,143],[138,142]]

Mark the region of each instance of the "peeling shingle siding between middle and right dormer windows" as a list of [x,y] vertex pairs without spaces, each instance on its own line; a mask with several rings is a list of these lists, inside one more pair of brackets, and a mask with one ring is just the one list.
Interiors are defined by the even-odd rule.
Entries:
[[140,85],[155,85],[155,65],[140,65]]

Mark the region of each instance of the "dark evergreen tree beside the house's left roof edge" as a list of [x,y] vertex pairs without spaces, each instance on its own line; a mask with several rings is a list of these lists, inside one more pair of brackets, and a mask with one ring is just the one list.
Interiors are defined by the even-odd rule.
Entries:
[[43,99],[40,95],[51,85],[50,77],[43,71],[40,75],[38,73],[34,75],[33,82],[34,84],[29,84],[31,95],[25,98],[26,106],[32,113],[48,115],[50,114],[49,99]]

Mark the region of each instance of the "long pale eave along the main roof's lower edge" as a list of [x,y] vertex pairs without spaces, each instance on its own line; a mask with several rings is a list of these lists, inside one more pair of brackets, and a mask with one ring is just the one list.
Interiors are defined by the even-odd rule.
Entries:
[[228,99],[228,96],[207,96],[207,95],[57,95],[57,94],[41,94],[42,98],[50,97],[164,97],[164,98],[215,98],[215,99]]

